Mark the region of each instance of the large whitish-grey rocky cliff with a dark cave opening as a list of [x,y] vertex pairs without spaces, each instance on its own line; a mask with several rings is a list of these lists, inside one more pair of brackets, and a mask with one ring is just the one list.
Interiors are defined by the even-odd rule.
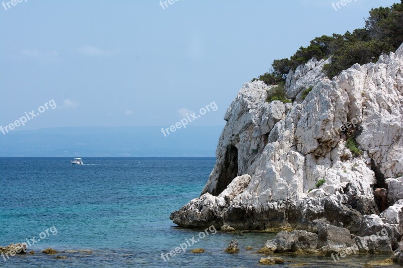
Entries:
[[[225,114],[209,181],[200,197],[171,214],[174,223],[315,233],[330,224],[362,236],[378,226],[397,247],[403,234],[403,45],[333,79],[322,72],[330,60],[312,59],[290,71],[286,90],[293,104],[267,103],[273,86],[261,81],[243,85]],[[349,137],[361,153],[346,147]]]

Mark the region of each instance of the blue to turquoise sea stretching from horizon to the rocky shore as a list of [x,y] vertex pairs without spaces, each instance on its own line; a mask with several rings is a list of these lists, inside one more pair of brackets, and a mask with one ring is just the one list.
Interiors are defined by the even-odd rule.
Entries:
[[[26,239],[32,243],[29,238],[44,237],[29,248],[35,255],[7,260],[0,257],[0,267],[259,266],[262,256],[245,247],[256,250],[275,236],[212,229],[200,239],[201,230],[177,228],[169,220],[173,210],[199,196],[215,158],[84,161],[86,164],[79,166],[71,165],[69,158],[0,158],[0,245]],[[192,237],[196,243],[188,249],[203,247],[205,253],[187,250],[168,261],[161,258],[161,253],[190,242]],[[231,239],[239,241],[241,251],[237,254],[223,252]],[[55,259],[40,253],[47,247],[58,251],[86,249],[92,254],[62,252],[58,255],[68,258]],[[283,267],[298,262],[309,267],[360,267],[388,256],[353,255],[338,262],[329,257],[282,257],[292,261]]]

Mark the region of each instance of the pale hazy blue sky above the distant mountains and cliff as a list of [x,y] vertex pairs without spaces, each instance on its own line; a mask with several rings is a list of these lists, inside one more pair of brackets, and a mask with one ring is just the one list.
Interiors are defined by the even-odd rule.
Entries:
[[[8,1],[6,1],[7,3]],[[169,126],[211,102],[194,125],[223,125],[243,82],[316,36],[361,28],[371,8],[327,0],[23,0],[0,7],[0,125],[53,99],[19,130]],[[6,5],[7,7],[7,5]]]

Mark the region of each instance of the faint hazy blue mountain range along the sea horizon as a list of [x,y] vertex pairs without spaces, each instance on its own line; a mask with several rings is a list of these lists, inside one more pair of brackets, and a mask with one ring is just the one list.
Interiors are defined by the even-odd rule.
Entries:
[[61,127],[0,133],[0,156],[215,156],[223,126]]

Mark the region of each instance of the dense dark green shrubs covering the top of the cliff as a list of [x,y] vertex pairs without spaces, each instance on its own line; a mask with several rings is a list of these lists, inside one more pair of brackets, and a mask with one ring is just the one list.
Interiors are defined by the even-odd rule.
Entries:
[[[278,84],[284,81],[290,70],[308,62],[331,57],[331,63],[324,66],[324,71],[331,78],[355,63],[376,62],[380,55],[395,51],[403,42],[403,0],[391,7],[372,9],[365,20],[365,27],[344,35],[323,35],[313,39],[309,46],[300,47],[289,59],[278,59],[272,69],[259,78],[266,84]],[[252,81],[253,81],[252,80]]]

